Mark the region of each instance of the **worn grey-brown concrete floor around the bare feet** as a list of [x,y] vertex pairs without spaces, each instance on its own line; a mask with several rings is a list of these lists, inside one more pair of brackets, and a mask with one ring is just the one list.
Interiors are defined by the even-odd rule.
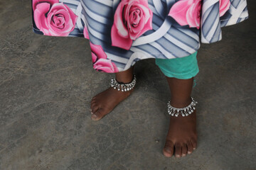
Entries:
[[162,154],[169,89],[154,59],[134,93],[102,120],[90,100],[114,74],[92,68],[88,40],[33,33],[31,1],[0,0],[0,169],[256,169],[256,1],[250,19],[202,45],[193,96],[198,149]]

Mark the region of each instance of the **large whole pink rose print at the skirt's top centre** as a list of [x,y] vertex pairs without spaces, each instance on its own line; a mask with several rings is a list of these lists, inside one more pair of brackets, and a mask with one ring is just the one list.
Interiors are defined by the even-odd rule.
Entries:
[[112,46],[129,50],[133,40],[152,29],[152,18],[148,0],[122,0],[114,13]]

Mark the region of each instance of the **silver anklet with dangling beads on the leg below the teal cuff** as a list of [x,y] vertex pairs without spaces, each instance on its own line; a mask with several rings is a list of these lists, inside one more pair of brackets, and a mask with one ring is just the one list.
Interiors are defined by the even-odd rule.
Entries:
[[191,97],[192,101],[191,103],[186,106],[185,108],[174,108],[173,106],[171,106],[170,101],[167,103],[168,106],[168,113],[171,116],[176,116],[178,117],[178,115],[181,113],[181,115],[184,116],[188,116],[191,113],[193,113],[193,111],[196,110],[195,106],[198,103],[197,101],[194,101],[194,99]]

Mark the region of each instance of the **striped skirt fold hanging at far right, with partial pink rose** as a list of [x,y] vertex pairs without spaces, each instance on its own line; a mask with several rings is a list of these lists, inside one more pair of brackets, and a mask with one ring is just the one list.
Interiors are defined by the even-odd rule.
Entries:
[[201,12],[201,42],[220,41],[221,28],[240,23],[247,18],[245,0],[204,0]]

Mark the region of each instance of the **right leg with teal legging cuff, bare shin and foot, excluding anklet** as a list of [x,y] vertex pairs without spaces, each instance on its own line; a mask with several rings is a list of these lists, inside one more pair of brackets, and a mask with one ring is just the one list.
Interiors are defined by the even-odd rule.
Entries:
[[[171,60],[156,60],[156,64],[166,76],[171,91],[171,106],[184,108],[191,103],[193,77],[198,74],[197,52],[188,57]],[[184,157],[196,149],[196,111],[182,117],[170,116],[169,132],[163,149],[166,157],[174,152],[176,157]]]

